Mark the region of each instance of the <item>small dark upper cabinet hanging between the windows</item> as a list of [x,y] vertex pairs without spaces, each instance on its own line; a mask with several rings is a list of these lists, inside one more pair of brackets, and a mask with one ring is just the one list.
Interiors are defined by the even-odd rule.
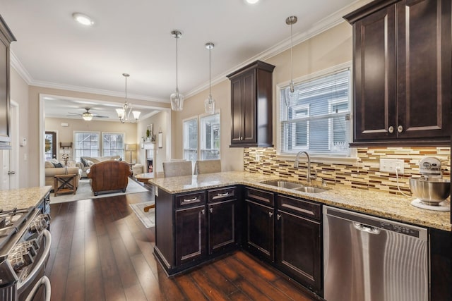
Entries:
[[230,147],[273,147],[273,69],[263,61],[241,68],[231,81]]

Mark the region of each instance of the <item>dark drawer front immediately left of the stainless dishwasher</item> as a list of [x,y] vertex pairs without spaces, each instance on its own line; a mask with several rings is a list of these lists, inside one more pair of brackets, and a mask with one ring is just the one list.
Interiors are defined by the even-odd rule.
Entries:
[[305,199],[286,197],[285,195],[278,195],[277,199],[278,209],[320,221],[321,204],[309,202]]

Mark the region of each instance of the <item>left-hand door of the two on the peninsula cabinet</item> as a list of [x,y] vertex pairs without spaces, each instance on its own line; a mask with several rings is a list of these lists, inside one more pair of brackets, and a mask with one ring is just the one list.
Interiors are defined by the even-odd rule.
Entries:
[[176,211],[176,265],[206,254],[206,207]]

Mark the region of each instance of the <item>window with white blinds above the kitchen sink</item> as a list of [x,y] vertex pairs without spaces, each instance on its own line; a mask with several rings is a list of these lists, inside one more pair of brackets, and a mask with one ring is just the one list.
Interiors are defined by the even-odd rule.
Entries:
[[295,97],[280,90],[280,154],[350,156],[350,70],[298,82]]

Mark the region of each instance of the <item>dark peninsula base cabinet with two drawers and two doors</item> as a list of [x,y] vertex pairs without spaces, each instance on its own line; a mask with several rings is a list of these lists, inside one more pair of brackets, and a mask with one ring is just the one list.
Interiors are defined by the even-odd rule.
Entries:
[[154,254],[173,275],[238,247],[235,186],[169,194],[157,190]]

